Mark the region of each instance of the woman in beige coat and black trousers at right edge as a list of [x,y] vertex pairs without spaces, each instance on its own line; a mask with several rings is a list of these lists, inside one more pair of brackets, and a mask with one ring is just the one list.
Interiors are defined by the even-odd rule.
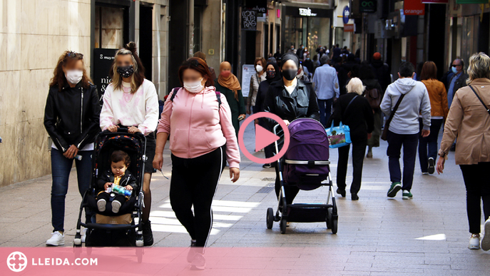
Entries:
[[490,249],[490,57],[476,53],[469,58],[468,86],[459,88],[449,109],[444,125],[437,173],[444,170],[444,162],[451,145],[456,142],[456,165],[461,167],[466,186],[469,249],[480,248],[481,207],[485,216],[485,235],[481,249]]

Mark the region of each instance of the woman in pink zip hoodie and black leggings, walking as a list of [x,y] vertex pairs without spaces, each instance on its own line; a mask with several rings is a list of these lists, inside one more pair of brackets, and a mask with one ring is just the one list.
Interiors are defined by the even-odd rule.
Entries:
[[163,148],[170,135],[170,205],[191,238],[188,262],[203,269],[203,249],[213,226],[215,190],[227,160],[230,178],[238,180],[240,151],[230,106],[225,96],[215,91],[204,61],[189,58],[178,74],[183,88],[174,89],[165,101],[153,167],[162,168]]

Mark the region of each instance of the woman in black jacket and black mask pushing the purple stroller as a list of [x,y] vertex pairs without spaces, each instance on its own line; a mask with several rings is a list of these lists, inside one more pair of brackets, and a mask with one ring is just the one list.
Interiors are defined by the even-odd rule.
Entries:
[[[317,95],[311,84],[305,84],[296,78],[300,61],[294,53],[285,53],[282,61],[282,79],[271,83],[264,100],[264,111],[279,116],[286,125],[297,118],[313,118],[320,120],[320,110]],[[269,128],[272,129],[274,120],[265,118]],[[281,188],[279,170],[275,163],[275,193],[279,196]],[[286,203],[291,204],[300,190],[296,186],[287,186],[285,189]]]

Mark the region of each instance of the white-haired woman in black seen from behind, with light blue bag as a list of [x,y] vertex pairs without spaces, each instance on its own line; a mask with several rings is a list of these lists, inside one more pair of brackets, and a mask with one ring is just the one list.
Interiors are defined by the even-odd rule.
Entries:
[[[335,109],[330,120],[338,126],[340,121],[350,128],[352,140],[352,168],[354,170],[350,193],[352,200],[359,200],[359,190],[362,179],[362,163],[366,153],[367,139],[374,128],[374,117],[369,101],[362,96],[364,86],[359,78],[351,78],[347,83],[347,94],[340,96],[335,102]],[[331,122],[329,126],[331,125]],[[349,161],[350,145],[339,148],[337,163],[337,193],[345,197],[345,178],[347,176],[347,163]]]

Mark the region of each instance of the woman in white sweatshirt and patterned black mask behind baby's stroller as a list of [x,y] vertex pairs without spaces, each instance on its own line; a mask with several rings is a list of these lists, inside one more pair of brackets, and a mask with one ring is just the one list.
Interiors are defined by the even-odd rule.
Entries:
[[111,68],[112,83],[107,86],[103,96],[101,111],[101,129],[111,132],[119,127],[128,128],[129,133],[141,132],[146,136],[145,175],[143,192],[145,193],[142,215],[143,240],[145,245],[153,244],[151,232],[150,181],[155,157],[155,134],[158,125],[158,96],[155,85],[145,78],[145,68],[141,63],[136,44],[130,42],[116,53]]

